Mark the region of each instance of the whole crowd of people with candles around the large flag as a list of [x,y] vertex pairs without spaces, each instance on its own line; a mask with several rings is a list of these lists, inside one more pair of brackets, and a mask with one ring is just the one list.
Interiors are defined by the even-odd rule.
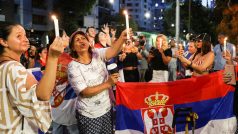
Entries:
[[[185,51],[184,45],[164,34],[149,44],[145,35],[135,38],[131,29],[129,40],[127,30],[117,38],[116,32],[108,25],[98,32],[94,27],[77,30],[70,37],[63,29],[60,37],[49,31],[49,44],[37,48],[21,25],[1,22],[0,132],[113,133],[113,86],[118,80],[199,77],[223,70],[236,59],[235,46],[224,44],[225,33],[218,35],[215,47],[206,33],[191,36]],[[119,73],[108,73],[107,65],[112,63]],[[27,70],[36,67],[42,72],[39,79]],[[229,80],[224,75],[224,81]]]

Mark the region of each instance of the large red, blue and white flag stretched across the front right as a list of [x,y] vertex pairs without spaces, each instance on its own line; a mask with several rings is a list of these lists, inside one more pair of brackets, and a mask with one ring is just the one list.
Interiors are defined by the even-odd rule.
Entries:
[[[118,83],[116,133],[184,134],[192,127],[196,134],[234,133],[234,90],[222,71],[167,83]],[[185,108],[196,114],[194,124],[175,120],[173,127],[175,111]]]

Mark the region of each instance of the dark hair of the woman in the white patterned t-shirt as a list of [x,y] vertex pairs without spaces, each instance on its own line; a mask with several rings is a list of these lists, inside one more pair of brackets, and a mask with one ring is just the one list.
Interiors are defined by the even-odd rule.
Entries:
[[[78,58],[79,57],[77,52],[73,50],[74,39],[75,39],[75,36],[78,35],[78,34],[84,36],[89,41],[87,35],[83,31],[76,31],[70,36],[70,40],[69,40],[70,56],[73,57],[73,58]],[[92,54],[92,47],[90,45],[89,45],[88,52],[90,54]]]

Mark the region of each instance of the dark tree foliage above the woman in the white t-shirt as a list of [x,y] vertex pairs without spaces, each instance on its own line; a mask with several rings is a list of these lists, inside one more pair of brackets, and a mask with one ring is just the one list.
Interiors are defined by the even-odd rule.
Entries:
[[68,34],[77,30],[83,16],[91,11],[96,0],[57,0],[54,11],[59,17],[59,23]]

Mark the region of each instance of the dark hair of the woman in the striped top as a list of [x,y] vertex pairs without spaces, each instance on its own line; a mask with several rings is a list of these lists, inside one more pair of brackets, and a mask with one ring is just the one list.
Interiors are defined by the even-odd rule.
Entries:
[[[8,36],[12,32],[13,27],[20,24],[12,22],[0,22],[0,38],[7,40]],[[4,46],[0,45],[0,55],[4,52]]]

